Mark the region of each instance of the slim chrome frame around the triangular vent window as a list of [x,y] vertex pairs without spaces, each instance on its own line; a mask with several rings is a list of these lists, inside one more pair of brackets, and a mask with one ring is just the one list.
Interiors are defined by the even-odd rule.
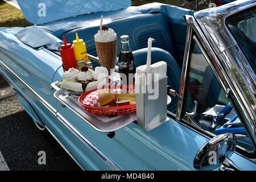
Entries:
[[[212,68],[212,71],[213,71],[214,75],[216,76],[217,80],[220,82],[220,85],[224,89],[224,92],[226,94],[232,93],[232,97],[234,97],[235,100],[239,99],[237,97],[237,94],[235,92],[235,88],[233,87],[232,82],[230,82],[229,75],[226,73],[226,71],[223,68],[222,64],[220,63],[220,60],[218,59],[216,53],[210,46],[208,40],[205,38],[203,31],[201,30],[201,28],[199,27],[199,25],[196,22],[196,19],[191,15],[184,15],[184,16],[185,16],[185,20],[188,24],[188,27],[187,27],[187,40],[186,40],[184,60],[183,60],[183,70],[181,73],[181,81],[184,80],[184,86],[180,86],[180,93],[183,93],[183,94],[185,93],[185,88],[186,88],[186,84],[187,84],[186,82],[187,82],[187,77],[188,77],[188,72],[189,72],[190,56],[191,56],[191,43],[192,43],[192,40],[194,40],[195,43],[197,43],[197,45],[199,46],[199,49],[203,53],[210,68]],[[193,34],[196,34],[196,36]],[[185,99],[183,100],[183,95],[180,94],[179,100],[177,103],[177,114],[176,114],[177,121],[183,123],[184,125],[189,126],[190,128],[192,127],[192,129],[195,129],[195,131],[197,131],[200,134],[208,135],[208,137],[216,136],[215,134],[213,134],[210,131],[195,127],[192,124],[190,124],[189,122],[183,121],[183,119],[181,117],[183,116],[182,114],[184,112],[184,107],[185,107],[184,102],[185,102]],[[241,107],[240,106],[241,102],[238,102],[238,103],[239,103],[239,107]],[[234,104],[234,102],[232,102],[232,104],[237,107],[237,105]],[[246,150],[246,148],[237,146],[238,154],[243,155],[245,158],[247,158],[253,162],[256,162],[256,160],[255,160],[256,144],[254,142],[255,136],[253,136],[253,133],[251,133],[251,130],[248,130],[248,127],[250,127],[250,126],[248,126],[247,124],[245,125],[245,123],[247,123],[246,117],[244,117],[243,115],[241,116],[241,114],[238,114],[238,115],[242,119],[243,126],[245,127],[245,129],[251,139],[251,142],[253,143],[253,146],[254,146],[254,151],[251,151],[251,152],[249,150]],[[251,158],[250,156],[253,156],[253,158]]]

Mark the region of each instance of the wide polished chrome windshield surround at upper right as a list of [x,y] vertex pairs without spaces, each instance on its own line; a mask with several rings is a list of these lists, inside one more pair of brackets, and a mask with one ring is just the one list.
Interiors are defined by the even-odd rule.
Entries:
[[256,7],[255,0],[234,1],[216,9],[198,11],[194,16],[213,52],[223,65],[221,74],[228,75],[226,84],[236,96],[246,117],[245,125],[250,130],[253,142],[256,143],[256,115],[251,107],[255,105],[256,76],[225,24],[229,16],[253,7]]

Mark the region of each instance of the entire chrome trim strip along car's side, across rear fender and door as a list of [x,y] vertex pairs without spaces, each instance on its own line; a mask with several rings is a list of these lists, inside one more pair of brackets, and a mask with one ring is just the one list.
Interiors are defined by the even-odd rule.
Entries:
[[39,96],[39,94],[36,93],[35,90],[33,90],[26,82],[24,82],[22,78],[20,78],[13,71],[11,71],[11,69],[7,67],[1,60],[0,65],[3,68],[5,68],[9,73],[11,73],[11,75],[13,75],[17,80],[22,82],[22,84],[26,86],[28,90],[30,90],[36,97],[38,97],[39,101],[42,102],[42,104],[46,106],[46,108],[49,111],[51,111],[53,115],[55,115],[66,127],[68,127],[69,130],[72,131],[72,133],[74,133],[80,140],[82,140],[82,142],[84,142],[86,146],[92,149],[96,153],[96,155],[98,155],[102,160],[104,160],[106,164],[108,164],[114,170],[121,171],[121,169],[118,166],[116,166],[106,155],[104,155],[100,150],[98,150],[97,147],[95,147],[91,142],[89,142],[88,139],[86,139],[79,131],[77,131],[75,127],[73,127],[65,118],[63,118],[59,113],[57,113],[57,111],[53,109],[53,107],[49,105],[47,101],[45,101],[41,96]]

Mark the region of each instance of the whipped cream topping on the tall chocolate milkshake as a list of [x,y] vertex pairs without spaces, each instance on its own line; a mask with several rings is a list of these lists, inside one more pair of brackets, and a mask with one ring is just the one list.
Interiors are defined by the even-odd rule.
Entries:
[[108,30],[98,30],[97,34],[94,35],[94,40],[96,42],[112,42],[117,39],[117,34],[112,28]]

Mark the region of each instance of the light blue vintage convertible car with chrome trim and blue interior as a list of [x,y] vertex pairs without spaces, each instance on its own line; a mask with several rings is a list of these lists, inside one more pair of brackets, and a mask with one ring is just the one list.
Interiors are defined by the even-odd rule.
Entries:
[[[255,170],[256,1],[194,12],[162,3],[19,1],[31,27],[0,28],[0,71],[39,129],[86,170]],[[100,16],[130,36],[136,67],[167,62],[167,121],[152,130],[134,115],[102,123],[75,96],[61,97],[60,44],[84,39],[93,67]],[[118,47],[118,52],[120,48]],[[157,107],[157,106],[155,106]],[[132,118],[132,119],[131,119]],[[109,121],[112,118],[109,117]],[[232,155],[233,154],[233,155]]]

